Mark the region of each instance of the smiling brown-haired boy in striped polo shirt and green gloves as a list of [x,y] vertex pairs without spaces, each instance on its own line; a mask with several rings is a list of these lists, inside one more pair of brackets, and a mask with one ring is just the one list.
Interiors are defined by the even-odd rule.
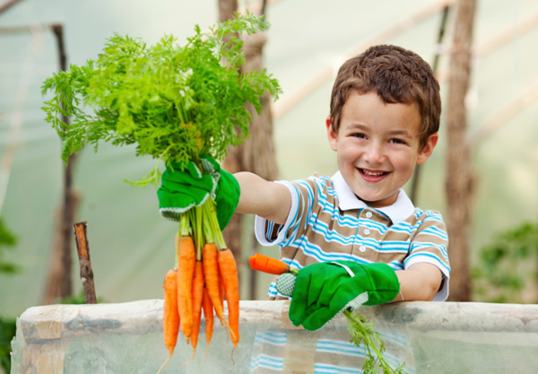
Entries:
[[[221,171],[217,210],[228,213],[221,227],[239,196],[236,212],[256,214],[257,239],[278,244],[282,260],[300,269],[294,325],[317,330],[364,292],[366,305],[447,299],[445,225],[402,189],[438,142],[440,109],[438,83],[421,57],[372,47],[345,62],[334,83],[325,121],[337,154],[333,177],[270,182]],[[162,196],[173,191],[163,187],[166,215]],[[282,298],[276,287],[270,299]]]

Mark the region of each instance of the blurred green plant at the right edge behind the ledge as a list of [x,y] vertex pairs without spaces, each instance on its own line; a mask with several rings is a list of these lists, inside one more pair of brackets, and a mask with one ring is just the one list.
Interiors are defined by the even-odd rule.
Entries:
[[499,232],[481,248],[472,276],[477,301],[538,302],[538,223]]

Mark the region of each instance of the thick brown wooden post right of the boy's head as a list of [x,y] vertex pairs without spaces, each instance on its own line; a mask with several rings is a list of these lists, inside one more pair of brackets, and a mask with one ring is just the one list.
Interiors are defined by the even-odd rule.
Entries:
[[450,238],[451,301],[471,300],[470,246],[473,208],[473,161],[467,135],[465,95],[471,82],[476,0],[460,0],[450,54],[447,94],[447,158],[445,192]]

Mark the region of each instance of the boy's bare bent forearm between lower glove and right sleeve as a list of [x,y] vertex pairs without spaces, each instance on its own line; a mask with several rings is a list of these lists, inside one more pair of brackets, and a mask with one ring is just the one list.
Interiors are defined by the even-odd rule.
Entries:
[[394,301],[431,301],[439,291],[443,274],[436,265],[421,263],[395,272],[400,293]]

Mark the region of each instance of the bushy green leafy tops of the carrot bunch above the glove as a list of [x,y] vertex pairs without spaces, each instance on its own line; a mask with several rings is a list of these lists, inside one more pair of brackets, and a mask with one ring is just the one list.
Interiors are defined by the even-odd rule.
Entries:
[[[259,112],[265,90],[281,91],[272,75],[242,72],[245,62],[237,35],[269,27],[250,13],[217,23],[184,47],[167,36],[152,47],[141,39],[114,35],[96,60],[71,65],[42,86],[53,92],[45,102],[47,121],[63,141],[62,159],[100,141],[135,144],[137,155],[151,155],[170,165],[199,161],[201,154],[221,160],[229,145],[248,135],[251,116],[245,103]],[[67,124],[63,117],[71,118]],[[152,170],[138,186],[158,183]]]

